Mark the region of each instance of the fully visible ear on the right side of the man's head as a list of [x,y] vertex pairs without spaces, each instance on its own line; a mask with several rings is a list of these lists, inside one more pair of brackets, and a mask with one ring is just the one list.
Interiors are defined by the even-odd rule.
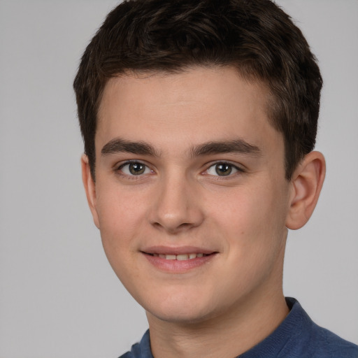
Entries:
[[294,171],[286,218],[288,229],[299,229],[308,222],[320,196],[325,174],[326,162],[320,152],[308,153]]

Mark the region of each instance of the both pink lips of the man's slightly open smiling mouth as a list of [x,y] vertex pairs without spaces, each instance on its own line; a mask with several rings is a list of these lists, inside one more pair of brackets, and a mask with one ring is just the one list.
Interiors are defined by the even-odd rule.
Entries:
[[[159,271],[164,271],[166,273],[185,273],[208,264],[208,262],[212,261],[217,256],[218,252],[193,246],[152,246],[141,250],[141,253],[145,259],[147,259],[152,266],[159,269]],[[186,260],[170,260],[154,256],[154,254],[182,255],[189,253],[202,253],[204,256]]]

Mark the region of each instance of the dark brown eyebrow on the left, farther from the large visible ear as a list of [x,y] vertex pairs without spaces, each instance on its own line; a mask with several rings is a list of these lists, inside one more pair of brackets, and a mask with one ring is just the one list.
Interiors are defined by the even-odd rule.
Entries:
[[107,144],[103,145],[101,155],[111,155],[118,152],[159,157],[159,153],[155,150],[154,147],[152,147],[152,145],[142,141],[126,141],[122,138],[112,139],[112,141],[109,141]]

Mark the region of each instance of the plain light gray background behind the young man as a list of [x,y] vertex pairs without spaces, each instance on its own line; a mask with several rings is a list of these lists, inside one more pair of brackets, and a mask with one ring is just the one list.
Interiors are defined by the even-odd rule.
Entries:
[[[114,0],[0,0],[0,357],[117,357],[147,327],[101,248],[80,179],[72,80]],[[280,0],[324,76],[327,180],[289,234],[284,288],[358,343],[358,1]]]

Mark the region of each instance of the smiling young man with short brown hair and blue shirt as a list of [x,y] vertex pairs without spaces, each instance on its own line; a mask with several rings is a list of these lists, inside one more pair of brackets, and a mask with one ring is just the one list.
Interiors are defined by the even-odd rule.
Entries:
[[282,293],[287,229],[324,180],[322,78],[268,0],[134,0],[74,88],[83,182],[150,330],[122,357],[358,357]]

